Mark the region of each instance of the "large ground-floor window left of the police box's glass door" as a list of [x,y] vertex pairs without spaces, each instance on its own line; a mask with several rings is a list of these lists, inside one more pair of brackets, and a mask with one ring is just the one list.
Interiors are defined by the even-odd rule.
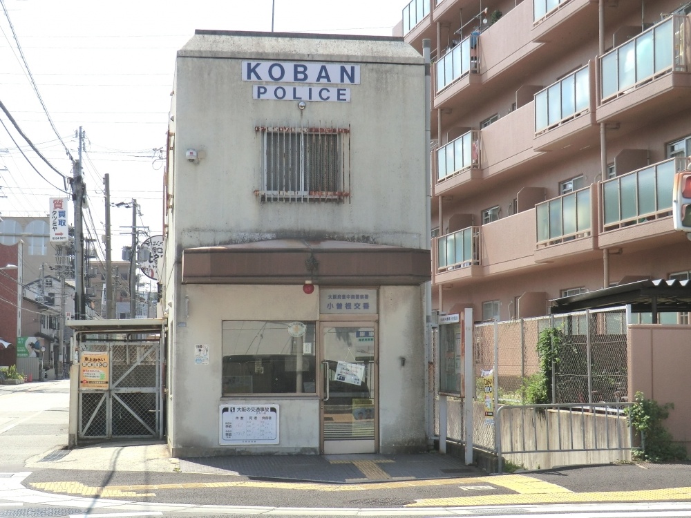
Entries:
[[223,323],[223,395],[316,391],[314,323],[294,338],[287,322]]

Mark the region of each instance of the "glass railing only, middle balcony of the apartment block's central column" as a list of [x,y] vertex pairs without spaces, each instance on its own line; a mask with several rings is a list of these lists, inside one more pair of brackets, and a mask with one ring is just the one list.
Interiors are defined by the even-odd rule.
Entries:
[[590,70],[576,70],[535,95],[535,133],[580,115],[590,106]]

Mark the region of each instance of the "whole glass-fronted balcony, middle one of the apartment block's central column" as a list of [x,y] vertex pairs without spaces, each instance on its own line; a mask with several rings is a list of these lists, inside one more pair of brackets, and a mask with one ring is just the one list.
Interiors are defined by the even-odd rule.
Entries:
[[594,61],[535,95],[536,151],[583,148],[598,143]]

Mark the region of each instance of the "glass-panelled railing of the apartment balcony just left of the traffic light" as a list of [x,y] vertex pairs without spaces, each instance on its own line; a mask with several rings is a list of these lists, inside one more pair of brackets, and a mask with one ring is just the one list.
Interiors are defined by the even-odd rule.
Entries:
[[671,215],[674,173],[683,169],[685,160],[672,158],[602,182],[603,231]]

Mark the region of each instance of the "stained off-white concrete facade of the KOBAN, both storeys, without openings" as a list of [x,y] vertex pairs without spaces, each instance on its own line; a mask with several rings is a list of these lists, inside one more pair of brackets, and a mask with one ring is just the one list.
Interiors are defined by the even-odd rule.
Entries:
[[[305,84],[272,80],[270,64],[289,73],[293,64],[310,73],[344,66],[346,75],[359,70],[359,81],[343,75],[328,84],[315,75]],[[272,69],[274,77],[283,77],[281,67]],[[338,68],[328,70],[339,75]],[[295,90],[302,99],[257,98],[258,88],[276,86],[293,97],[292,88],[303,88]],[[323,100],[329,96],[350,100]],[[377,401],[374,450],[426,449],[419,412],[426,376],[420,284],[429,278],[423,97],[422,57],[402,39],[197,31],[178,51],[165,186],[167,247],[159,260],[173,454],[323,451],[319,329],[348,321],[376,333],[375,363],[368,364]],[[264,135],[274,133],[338,135],[341,188],[300,194],[268,189],[274,179],[263,163],[269,153]],[[375,311],[323,314],[322,290],[341,287],[375,289]],[[310,361],[319,367],[305,371],[305,379],[314,378],[308,389],[224,395],[223,369],[232,356],[225,352],[223,326],[238,321],[314,325]],[[208,345],[208,363],[196,363],[196,345]],[[264,372],[260,363],[254,374]],[[219,407],[272,404],[280,406],[278,443],[220,442]]]

